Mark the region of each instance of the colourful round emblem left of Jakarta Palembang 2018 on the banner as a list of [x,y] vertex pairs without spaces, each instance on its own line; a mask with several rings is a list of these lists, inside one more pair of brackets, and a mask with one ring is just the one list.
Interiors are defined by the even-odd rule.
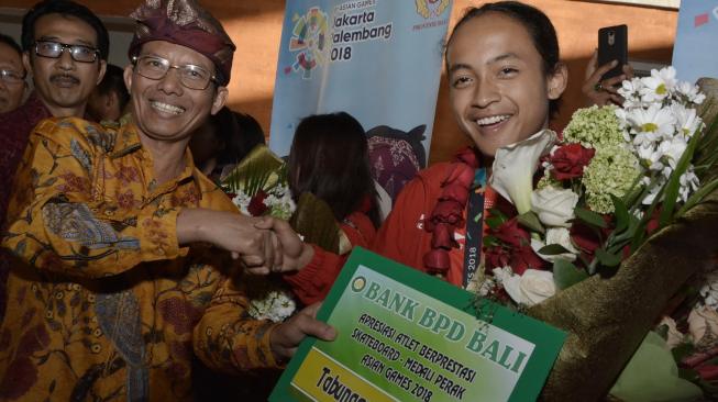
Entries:
[[305,15],[295,14],[289,40],[289,52],[297,52],[295,63],[285,67],[285,74],[301,70],[303,79],[311,78],[311,70],[324,64],[324,51],[329,46],[327,13],[312,7]]

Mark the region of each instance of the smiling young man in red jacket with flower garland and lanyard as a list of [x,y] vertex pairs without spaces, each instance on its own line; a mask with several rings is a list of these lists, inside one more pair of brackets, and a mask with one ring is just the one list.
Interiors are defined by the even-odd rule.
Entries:
[[[419,171],[399,193],[372,249],[464,287],[471,284],[464,267],[465,250],[470,249],[465,239],[480,238],[467,234],[467,225],[462,224],[468,215],[470,194],[482,193],[470,191],[470,187],[479,186],[477,178],[490,175],[499,147],[548,129],[568,71],[560,59],[559,40],[549,18],[518,1],[468,9],[446,43],[445,63],[454,116],[475,148],[459,153],[454,161]],[[497,196],[490,187],[482,187],[480,215],[485,216]],[[269,221],[267,226],[274,223]],[[472,226],[482,230],[482,224]],[[287,265],[299,269],[285,276],[294,276],[295,293],[306,299],[321,297],[339,275],[336,261],[336,256],[314,249]]]

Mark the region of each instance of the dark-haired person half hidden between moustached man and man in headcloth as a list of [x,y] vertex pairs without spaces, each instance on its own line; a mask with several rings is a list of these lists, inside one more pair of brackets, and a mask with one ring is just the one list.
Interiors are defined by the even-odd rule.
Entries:
[[130,101],[130,92],[122,78],[123,69],[108,64],[102,81],[95,87],[87,101],[87,116],[98,123],[117,123]]

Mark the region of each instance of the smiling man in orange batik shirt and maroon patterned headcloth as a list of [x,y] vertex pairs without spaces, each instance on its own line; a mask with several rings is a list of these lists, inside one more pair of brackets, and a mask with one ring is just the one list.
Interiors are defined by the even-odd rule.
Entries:
[[228,372],[272,368],[307,334],[334,336],[316,306],[281,324],[246,312],[231,256],[284,269],[311,247],[274,225],[278,247],[195,168],[187,144],[224,104],[234,45],[194,0],[169,4],[132,14],[136,123],[52,119],[31,135],[3,238],[18,258],[0,399],[189,400],[194,355]]

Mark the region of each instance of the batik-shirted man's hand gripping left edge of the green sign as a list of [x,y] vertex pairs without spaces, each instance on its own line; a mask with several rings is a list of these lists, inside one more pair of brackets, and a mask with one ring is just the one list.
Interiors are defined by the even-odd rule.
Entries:
[[313,336],[322,340],[334,340],[336,331],[317,320],[317,311],[319,311],[320,306],[321,303],[314,303],[272,331],[269,344],[272,345],[272,353],[278,361],[288,360],[294,356],[297,347],[307,336]]

